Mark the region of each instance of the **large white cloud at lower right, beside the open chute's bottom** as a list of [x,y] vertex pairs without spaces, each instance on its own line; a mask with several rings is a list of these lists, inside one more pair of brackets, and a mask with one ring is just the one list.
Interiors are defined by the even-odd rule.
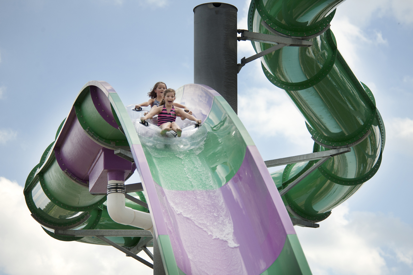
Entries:
[[[413,270],[413,228],[391,215],[336,207],[320,228],[295,227],[313,274],[385,275]],[[406,273],[404,273],[406,274]]]

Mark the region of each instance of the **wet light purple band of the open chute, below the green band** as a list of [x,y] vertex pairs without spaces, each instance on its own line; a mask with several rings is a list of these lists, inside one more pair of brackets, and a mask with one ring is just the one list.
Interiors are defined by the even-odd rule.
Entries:
[[237,174],[221,188],[166,190],[155,184],[161,209],[152,212],[163,216],[167,232],[158,228],[158,234],[169,235],[185,274],[258,275],[277,259],[287,234],[295,231],[266,174],[256,146],[247,146]]

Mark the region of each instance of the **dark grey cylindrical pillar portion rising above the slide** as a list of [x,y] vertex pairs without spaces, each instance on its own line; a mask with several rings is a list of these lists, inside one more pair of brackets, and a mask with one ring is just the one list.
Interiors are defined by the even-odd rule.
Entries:
[[194,83],[216,90],[237,113],[237,8],[206,3],[194,8]]

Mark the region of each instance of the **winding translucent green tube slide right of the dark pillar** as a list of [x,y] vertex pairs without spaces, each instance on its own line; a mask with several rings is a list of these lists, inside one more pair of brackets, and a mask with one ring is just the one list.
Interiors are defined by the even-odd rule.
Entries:
[[[337,48],[329,28],[342,0],[253,0],[249,31],[313,42],[311,47],[283,47],[261,57],[262,69],[285,89],[306,120],[313,152],[351,146],[350,153],[325,162],[282,196],[291,216],[307,221],[327,218],[380,167],[385,127],[370,89],[359,82]],[[271,44],[252,42],[256,52]],[[317,161],[287,165],[272,173],[279,191]]]

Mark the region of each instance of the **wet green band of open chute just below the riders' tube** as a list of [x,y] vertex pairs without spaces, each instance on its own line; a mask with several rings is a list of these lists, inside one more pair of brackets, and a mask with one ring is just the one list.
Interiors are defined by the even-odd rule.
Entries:
[[[201,146],[182,152],[142,146],[152,178],[163,188],[168,190],[220,188],[232,179],[240,168],[247,144],[220,100],[223,100],[221,96],[214,97],[210,115],[202,125],[207,129],[208,134]],[[249,134],[246,136],[247,139],[251,139]],[[173,167],[173,169],[165,169],[165,167]]]

